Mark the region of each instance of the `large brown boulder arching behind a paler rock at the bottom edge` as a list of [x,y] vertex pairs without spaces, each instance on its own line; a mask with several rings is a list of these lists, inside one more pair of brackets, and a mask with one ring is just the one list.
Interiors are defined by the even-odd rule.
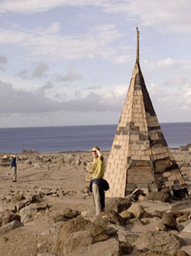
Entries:
[[94,238],[95,242],[105,241],[109,237],[106,235],[105,230],[99,226],[95,225],[88,220],[85,220],[81,216],[72,218],[68,222],[64,222],[60,228],[60,233],[57,236],[57,240],[53,245],[53,253],[61,254],[63,256],[63,245],[66,239],[69,238],[70,234],[76,231],[89,231]]

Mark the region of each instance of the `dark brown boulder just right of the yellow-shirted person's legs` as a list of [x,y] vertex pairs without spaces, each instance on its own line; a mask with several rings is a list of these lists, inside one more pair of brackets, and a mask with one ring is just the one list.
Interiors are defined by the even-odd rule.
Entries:
[[106,199],[106,210],[114,210],[115,212],[121,213],[127,210],[131,206],[131,200],[121,197],[113,197]]

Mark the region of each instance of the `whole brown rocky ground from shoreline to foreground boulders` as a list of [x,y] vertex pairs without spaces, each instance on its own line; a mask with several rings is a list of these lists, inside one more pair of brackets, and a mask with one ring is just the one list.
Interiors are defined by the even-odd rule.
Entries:
[[[95,217],[86,193],[91,153],[18,154],[18,182],[0,154],[0,255],[191,255],[191,199],[106,199]],[[108,152],[104,152],[105,159]],[[188,187],[191,152],[173,149]],[[161,202],[163,201],[163,202]]]

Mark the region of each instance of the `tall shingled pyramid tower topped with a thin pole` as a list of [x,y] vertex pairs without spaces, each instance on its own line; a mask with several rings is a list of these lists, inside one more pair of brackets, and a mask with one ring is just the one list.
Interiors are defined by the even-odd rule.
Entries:
[[[137,57],[128,94],[105,169],[107,197],[124,197],[134,189],[183,195],[186,184],[163,137]],[[180,196],[181,197],[181,196]]]

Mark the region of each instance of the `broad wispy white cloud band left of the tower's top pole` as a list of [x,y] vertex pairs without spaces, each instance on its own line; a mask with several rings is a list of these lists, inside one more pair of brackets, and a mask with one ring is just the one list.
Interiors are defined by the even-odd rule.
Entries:
[[33,31],[0,29],[0,44],[18,44],[28,49],[28,58],[35,61],[38,57],[53,61],[100,56],[118,61],[118,56],[122,59],[122,56],[127,54],[117,46],[109,46],[125,35],[118,31],[115,25],[91,28],[86,34],[76,36],[58,34],[57,26],[55,29],[50,25],[47,29],[38,28]]

